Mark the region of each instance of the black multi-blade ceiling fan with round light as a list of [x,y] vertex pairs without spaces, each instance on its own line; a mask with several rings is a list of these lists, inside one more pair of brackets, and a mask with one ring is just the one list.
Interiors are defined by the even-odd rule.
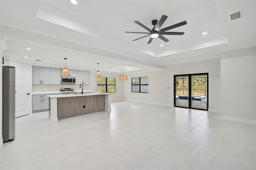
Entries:
[[[127,32],[126,33],[138,33],[138,34],[148,34],[146,36],[142,36],[140,38],[144,38],[144,37],[147,37],[147,36],[150,36],[150,39],[148,41],[148,44],[150,44],[153,40],[153,38],[160,38],[161,40],[163,40],[164,42],[168,42],[169,40],[167,38],[165,38],[164,36],[162,35],[183,35],[184,32],[165,32],[167,30],[171,30],[173,28],[177,28],[179,26],[183,26],[183,25],[186,25],[187,22],[186,21],[183,21],[183,22],[180,22],[178,24],[174,24],[172,26],[168,26],[166,28],[161,28],[161,26],[164,24],[165,20],[167,19],[168,16],[165,16],[163,15],[159,22],[158,20],[152,20],[152,25],[154,25],[154,28],[153,29],[150,29],[148,27],[146,27],[145,25],[143,25],[142,23],[140,23],[139,21],[134,21],[136,24],[142,26],[143,28],[145,28],[146,30],[148,30],[149,32]],[[136,40],[139,40],[140,38],[137,38],[135,40],[132,40],[132,41],[136,41]]]

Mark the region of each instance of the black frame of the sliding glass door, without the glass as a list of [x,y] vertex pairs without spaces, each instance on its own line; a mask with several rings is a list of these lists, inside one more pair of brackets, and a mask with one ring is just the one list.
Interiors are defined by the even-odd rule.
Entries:
[[[192,108],[191,107],[191,103],[192,103],[192,76],[200,76],[200,75],[207,75],[207,109],[200,109],[200,108]],[[196,74],[178,74],[178,75],[174,75],[174,107],[180,107],[180,108],[187,108],[187,107],[182,107],[182,106],[176,106],[176,77],[180,77],[180,76],[188,76],[188,108],[191,109],[197,109],[197,110],[206,110],[208,111],[209,108],[209,74],[208,73],[196,73]]]

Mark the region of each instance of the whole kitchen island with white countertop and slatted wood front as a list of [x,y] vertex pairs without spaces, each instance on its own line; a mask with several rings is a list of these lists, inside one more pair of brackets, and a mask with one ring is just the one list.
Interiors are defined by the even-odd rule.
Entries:
[[48,97],[52,122],[94,112],[111,111],[110,93],[58,94]]

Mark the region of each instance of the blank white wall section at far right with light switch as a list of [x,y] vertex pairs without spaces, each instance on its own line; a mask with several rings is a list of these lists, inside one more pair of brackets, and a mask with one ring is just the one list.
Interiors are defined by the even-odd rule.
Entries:
[[222,52],[221,103],[222,118],[256,124],[255,46]]

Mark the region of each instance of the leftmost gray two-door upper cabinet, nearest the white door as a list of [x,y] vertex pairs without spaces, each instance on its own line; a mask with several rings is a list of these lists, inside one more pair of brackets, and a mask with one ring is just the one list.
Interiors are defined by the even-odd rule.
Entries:
[[32,84],[50,84],[50,68],[32,66]]

